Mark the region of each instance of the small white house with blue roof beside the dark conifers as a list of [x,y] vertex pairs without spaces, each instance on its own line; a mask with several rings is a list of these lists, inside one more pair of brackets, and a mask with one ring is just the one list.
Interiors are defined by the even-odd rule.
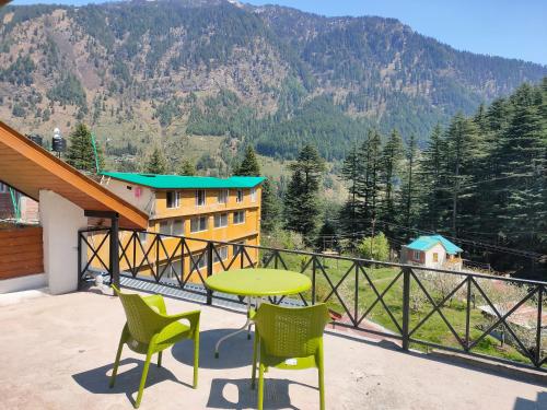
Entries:
[[400,261],[426,268],[462,269],[463,249],[442,235],[424,235],[400,249]]

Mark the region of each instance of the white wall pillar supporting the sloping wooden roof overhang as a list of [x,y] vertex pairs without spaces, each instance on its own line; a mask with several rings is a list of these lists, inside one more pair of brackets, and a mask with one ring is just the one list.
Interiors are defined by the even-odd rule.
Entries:
[[88,226],[83,209],[60,195],[39,191],[39,218],[44,232],[44,271],[49,292],[78,289],[78,231]]

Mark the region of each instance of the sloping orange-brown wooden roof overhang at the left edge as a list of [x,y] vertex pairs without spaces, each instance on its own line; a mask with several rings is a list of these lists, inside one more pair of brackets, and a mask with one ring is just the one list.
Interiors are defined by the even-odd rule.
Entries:
[[38,200],[51,190],[85,211],[116,212],[124,227],[146,229],[148,215],[0,121],[0,180]]

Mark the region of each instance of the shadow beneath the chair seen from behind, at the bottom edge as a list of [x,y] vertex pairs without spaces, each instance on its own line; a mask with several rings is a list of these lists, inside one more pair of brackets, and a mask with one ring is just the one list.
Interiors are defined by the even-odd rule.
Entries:
[[[258,380],[257,380],[258,383]],[[287,378],[265,377],[264,408],[265,409],[295,409],[289,396],[289,386],[301,385],[317,390],[316,387],[289,380]],[[232,389],[232,391],[230,391]],[[228,391],[226,391],[228,390]],[[231,397],[226,397],[226,395]],[[236,399],[235,399],[236,397]],[[211,393],[207,401],[211,409],[253,409],[257,407],[257,390],[251,388],[251,378],[213,378]]]

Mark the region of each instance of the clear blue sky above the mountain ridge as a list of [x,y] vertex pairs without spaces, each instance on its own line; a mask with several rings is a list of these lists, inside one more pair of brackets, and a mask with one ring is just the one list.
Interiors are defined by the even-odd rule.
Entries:
[[[12,4],[104,0],[15,0]],[[547,0],[246,0],[337,15],[394,17],[450,46],[547,65]]]

